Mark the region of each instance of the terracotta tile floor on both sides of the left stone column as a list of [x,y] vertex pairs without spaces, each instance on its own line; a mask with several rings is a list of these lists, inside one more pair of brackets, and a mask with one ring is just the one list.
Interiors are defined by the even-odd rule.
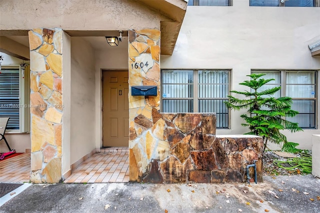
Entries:
[[[112,151],[112,150],[110,150]],[[0,161],[0,182],[29,182],[30,153]],[[128,182],[128,152],[96,152],[72,170],[64,182]]]

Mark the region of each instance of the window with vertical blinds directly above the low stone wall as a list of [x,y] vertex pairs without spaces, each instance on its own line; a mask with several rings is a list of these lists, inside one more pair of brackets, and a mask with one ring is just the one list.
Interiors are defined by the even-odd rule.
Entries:
[[217,128],[229,127],[224,104],[229,70],[161,70],[162,112],[215,112]]

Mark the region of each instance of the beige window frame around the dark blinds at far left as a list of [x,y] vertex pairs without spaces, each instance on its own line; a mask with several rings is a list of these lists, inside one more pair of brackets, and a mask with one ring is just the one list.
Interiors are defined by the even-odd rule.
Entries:
[[20,64],[1,64],[1,69],[19,70],[19,129],[6,129],[6,133],[30,132],[30,69],[27,64],[24,68]]

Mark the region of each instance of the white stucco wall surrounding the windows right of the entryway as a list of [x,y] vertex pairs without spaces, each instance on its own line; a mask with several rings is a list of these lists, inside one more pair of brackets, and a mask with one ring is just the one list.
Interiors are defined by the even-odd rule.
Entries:
[[[231,69],[231,89],[240,90],[251,69],[320,69],[320,57],[311,57],[307,46],[319,38],[320,7],[249,7],[248,0],[188,6],[173,54],[161,55],[161,68]],[[231,111],[230,129],[217,134],[246,132],[241,113]],[[286,135],[311,149],[311,135],[319,133]]]

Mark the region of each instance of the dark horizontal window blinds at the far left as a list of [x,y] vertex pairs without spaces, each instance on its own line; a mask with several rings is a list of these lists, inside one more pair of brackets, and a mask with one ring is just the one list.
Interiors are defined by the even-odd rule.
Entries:
[[19,88],[19,69],[1,69],[0,117],[10,117],[7,129],[19,129],[20,127]]

